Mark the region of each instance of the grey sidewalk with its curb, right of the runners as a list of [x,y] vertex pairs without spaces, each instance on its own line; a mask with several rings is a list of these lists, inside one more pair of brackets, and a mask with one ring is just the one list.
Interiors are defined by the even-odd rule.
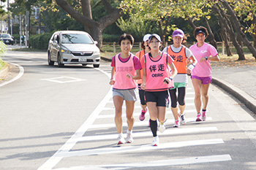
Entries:
[[[113,56],[101,57],[111,61]],[[213,84],[241,101],[256,114],[256,66],[212,66]]]

